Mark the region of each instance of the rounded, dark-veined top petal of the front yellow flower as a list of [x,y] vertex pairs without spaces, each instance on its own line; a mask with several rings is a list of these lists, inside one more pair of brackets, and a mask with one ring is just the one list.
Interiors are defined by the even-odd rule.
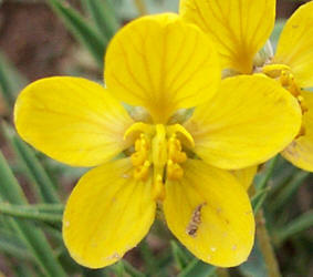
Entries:
[[212,43],[174,13],[127,24],[113,38],[105,64],[107,88],[122,101],[145,106],[156,123],[210,99],[220,80]]

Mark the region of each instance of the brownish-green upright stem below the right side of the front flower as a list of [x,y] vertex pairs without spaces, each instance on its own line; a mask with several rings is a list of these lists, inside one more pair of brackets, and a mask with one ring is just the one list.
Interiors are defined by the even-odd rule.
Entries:
[[267,264],[269,277],[281,277],[279,264],[271,244],[271,238],[265,227],[265,218],[263,211],[260,211],[255,217],[257,222],[257,238],[259,246]]

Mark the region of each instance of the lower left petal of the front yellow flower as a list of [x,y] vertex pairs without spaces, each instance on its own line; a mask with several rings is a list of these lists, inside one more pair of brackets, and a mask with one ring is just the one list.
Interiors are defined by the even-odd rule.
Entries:
[[149,230],[156,204],[150,182],[133,178],[128,158],[86,173],[72,192],[63,216],[63,238],[81,265],[114,264]]

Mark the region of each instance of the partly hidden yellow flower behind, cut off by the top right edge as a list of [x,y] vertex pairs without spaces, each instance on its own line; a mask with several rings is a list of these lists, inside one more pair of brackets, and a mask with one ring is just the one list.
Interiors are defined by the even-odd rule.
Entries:
[[[313,1],[288,20],[277,53],[260,68],[253,64],[275,21],[275,0],[181,0],[185,20],[200,27],[218,45],[222,68],[279,80],[303,111],[302,129],[281,153],[295,166],[313,171]],[[254,60],[255,61],[255,60]]]

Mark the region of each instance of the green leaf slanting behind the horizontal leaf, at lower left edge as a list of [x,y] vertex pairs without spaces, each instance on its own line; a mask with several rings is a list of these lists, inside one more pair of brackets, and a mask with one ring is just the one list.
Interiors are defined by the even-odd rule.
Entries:
[[[6,158],[0,152],[0,197],[2,201],[17,205],[27,205],[27,198],[14,178]],[[22,219],[11,220],[15,234],[24,242],[25,246],[32,252],[38,265],[45,276],[65,277],[59,261],[54,258],[53,250],[49,245],[44,234],[33,224]]]

